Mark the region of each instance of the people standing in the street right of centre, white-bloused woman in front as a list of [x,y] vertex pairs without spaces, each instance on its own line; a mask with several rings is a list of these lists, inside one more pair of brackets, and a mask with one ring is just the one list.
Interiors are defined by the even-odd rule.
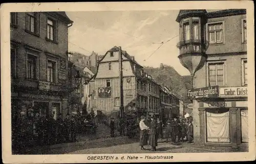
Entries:
[[[163,123],[156,116],[151,117],[151,122],[145,120],[144,116],[140,118],[140,146],[141,150],[145,150],[145,145],[150,145],[152,147],[151,151],[156,151],[158,145],[158,139],[163,139]],[[190,119],[174,117],[167,121],[165,129],[165,139],[166,143],[169,142],[178,143],[184,142],[188,143],[193,141],[193,124]]]

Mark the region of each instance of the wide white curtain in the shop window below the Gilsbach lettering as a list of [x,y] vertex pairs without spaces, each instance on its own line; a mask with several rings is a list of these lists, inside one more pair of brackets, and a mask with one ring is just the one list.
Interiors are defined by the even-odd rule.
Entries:
[[229,142],[229,113],[206,112],[207,142]]

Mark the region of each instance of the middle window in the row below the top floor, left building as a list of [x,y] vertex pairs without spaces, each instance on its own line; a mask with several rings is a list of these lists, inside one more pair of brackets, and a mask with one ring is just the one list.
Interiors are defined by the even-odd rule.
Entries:
[[37,57],[32,54],[27,56],[27,73],[29,79],[37,79]]

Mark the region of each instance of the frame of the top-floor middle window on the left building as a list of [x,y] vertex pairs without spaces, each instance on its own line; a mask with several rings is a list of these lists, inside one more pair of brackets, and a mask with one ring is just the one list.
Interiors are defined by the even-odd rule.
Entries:
[[[34,15],[31,15],[30,13],[33,13]],[[30,23],[30,17],[33,17],[35,20],[35,23],[34,23],[34,32],[31,31],[31,23]],[[29,24],[29,27],[27,26]],[[33,34],[35,36],[39,36],[39,22],[40,22],[40,17],[39,17],[39,12],[26,12],[26,23],[25,23],[25,31],[27,33],[30,33],[30,34]]]

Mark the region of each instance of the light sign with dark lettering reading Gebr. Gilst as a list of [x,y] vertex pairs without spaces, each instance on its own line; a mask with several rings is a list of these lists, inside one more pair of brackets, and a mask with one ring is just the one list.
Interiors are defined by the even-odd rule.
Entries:
[[247,97],[247,87],[223,87],[220,88],[220,97]]

